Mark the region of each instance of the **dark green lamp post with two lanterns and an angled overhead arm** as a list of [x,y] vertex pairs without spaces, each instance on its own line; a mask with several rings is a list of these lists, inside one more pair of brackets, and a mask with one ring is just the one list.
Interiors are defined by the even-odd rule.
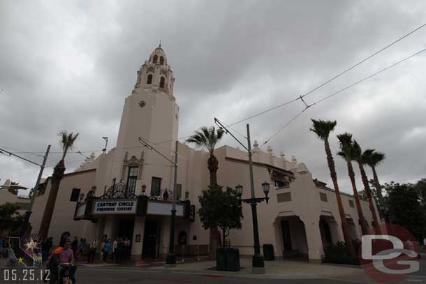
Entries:
[[[258,214],[257,214],[257,204],[259,202],[263,202],[265,200],[266,202],[269,200],[269,197],[267,197],[267,193],[269,193],[269,184],[265,181],[262,184],[263,192],[265,193],[265,197],[256,198],[256,195],[254,193],[254,177],[253,177],[253,161],[251,159],[252,152],[251,152],[251,141],[250,141],[250,127],[249,124],[247,124],[247,147],[244,145],[240,140],[237,139],[230,131],[226,128],[226,126],[223,126],[219,119],[214,118],[214,122],[219,126],[219,128],[223,129],[231,135],[244,149],[247,150],[247,153],[249,155],[249,174],[250,174],[250,192],[251,192],[251,198],[242,200],[245,203],[248,203],[251,205],[251,217],[253,218],[253,235],[254,235],[254,255],[252,260],[252,271],[254,274],[265,274],[265,261],[263,260],[263,256],[260,254],[260,241],[259,241],[259,229],[258,229]],[[242,186],[237,186],[237,192],[240,190],[240,193],[242,195]]]

